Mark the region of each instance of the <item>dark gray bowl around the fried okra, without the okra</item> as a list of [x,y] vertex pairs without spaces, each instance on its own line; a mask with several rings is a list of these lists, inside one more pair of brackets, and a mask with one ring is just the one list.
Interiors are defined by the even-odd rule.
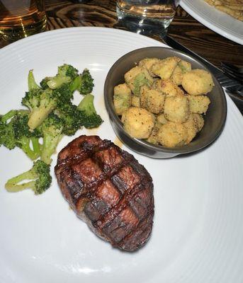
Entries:
[[106,109],[115,134],[117,134],[121,141],[123,141],[123,143],[133,151],[152,158],[170,158],[179,154],[189,154],[203,149],[219,137],[225,125],[227,115],[225,93],[222,91],[222,88],[215,77],[213,77],[215,86],[213,91],[210,92],[211,103],[206,115],[204,116],[205,125],[190,144],[170,149],[164,146],[150,144],[142,139],[132,138],[125,132],[123,124],[118,115],[116,115],[113,105],[114,86],[119,83],[124,83],[124,74],[128,70],[132,69],[132,67],[135,67],[136,63],[138,63],[141,59],[146,57],[166,58],[171,56],[178,56],[181,59],[190,62],[193,69],[207,69],[202,63],[193,59],[193,57],[188,56],[183,52],[179,52],[178,50],[166,47],[145,47],[129,52],[118,59],[108,72],[104,86]]

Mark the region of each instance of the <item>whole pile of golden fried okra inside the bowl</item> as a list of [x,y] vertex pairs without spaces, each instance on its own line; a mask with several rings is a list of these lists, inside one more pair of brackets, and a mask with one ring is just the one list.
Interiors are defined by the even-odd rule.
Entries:
[[203,128],[202,114],[210,105],[205,94],[213,88],[208,71],[191,70],[179,57],[145,58],[124,77],[114,104],[131,137],[175,147],[189,144]]

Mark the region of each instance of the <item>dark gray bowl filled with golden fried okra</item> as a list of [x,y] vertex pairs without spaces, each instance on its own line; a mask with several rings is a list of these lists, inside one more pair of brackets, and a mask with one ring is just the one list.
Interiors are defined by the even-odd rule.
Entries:
[[225,93],[198,60],[166,47],[145,47],[113,64],[104,97],[115,134],[152,158],[190,154],[225,125]]

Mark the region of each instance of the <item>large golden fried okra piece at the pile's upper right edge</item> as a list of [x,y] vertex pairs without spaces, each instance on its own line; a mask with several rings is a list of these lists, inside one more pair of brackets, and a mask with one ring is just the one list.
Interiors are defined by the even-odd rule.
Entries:
[[184,90],[192,96],[200,96],[212,91],[214,83],[211,74],[203,69],[193,69],[183,75]]

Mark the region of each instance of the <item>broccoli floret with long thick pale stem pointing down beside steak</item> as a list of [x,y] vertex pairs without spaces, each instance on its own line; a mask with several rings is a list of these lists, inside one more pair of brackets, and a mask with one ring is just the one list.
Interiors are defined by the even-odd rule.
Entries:
[[47,164],[52,162],[51,156],[55,153],[57,144],[62,139],[63,124],[60,117],[51,113],[41,125],[43,146],[40,158]]

